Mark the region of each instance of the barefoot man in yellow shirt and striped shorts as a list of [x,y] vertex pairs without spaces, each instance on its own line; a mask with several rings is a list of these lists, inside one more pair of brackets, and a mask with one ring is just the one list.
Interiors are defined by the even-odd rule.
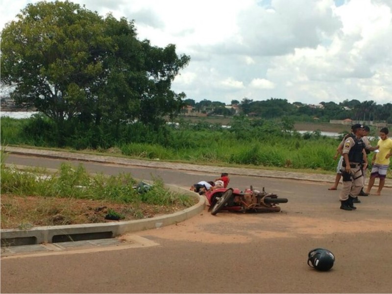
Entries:
[[388,138],[389,130],[383,127],[380,130],[380,140],[377,145],[379,146],[379,152],[374,153],[371,163],[373,167],[370,173],[370,179],[368,183],[368,189],[366,193],[370,193],[371,187],[374,185],[374,180],[376,177],[380,179],[378,184],[378,190],[375,195],[381,195],[381,190],[385,184],[385,177],[390,164],[390,157],[392,156],[392,140]]

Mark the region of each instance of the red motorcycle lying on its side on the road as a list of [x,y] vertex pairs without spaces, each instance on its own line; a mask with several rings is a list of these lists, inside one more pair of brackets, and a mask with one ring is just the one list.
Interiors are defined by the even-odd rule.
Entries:
[[212,215],[216,215],[221,210],[227,211],[255,211],[255,212],[279,212],[277,203],[287,203],[287,198],[278,198],[276,194],[253,190],[253,187],[242,192],[237,188],[219,188],[207,191],[204,194],[210,204]]

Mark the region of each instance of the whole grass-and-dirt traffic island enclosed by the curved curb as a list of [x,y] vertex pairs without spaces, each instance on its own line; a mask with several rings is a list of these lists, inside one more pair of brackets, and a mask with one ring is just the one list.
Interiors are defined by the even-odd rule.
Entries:
[[[3,157],[3,152],[1,152]],[[17,170],[1,162],[1,229],[122,221],[171,214],[195,198],[164,188],[160,179],[139,183],[129,173],[91,175],[83,165],[63,163],[58,172]]]

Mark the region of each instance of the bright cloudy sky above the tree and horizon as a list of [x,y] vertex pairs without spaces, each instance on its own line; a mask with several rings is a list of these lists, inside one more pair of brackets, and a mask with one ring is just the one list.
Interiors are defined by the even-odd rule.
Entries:
[[[0,27],[27,3],[1,0]],[[172,83],[199,102],[392,103],[392,0],[73,0],[134,20],[191,57]]]

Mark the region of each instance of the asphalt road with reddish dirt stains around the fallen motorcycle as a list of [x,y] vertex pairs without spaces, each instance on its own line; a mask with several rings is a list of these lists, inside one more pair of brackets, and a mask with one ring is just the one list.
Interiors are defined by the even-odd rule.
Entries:
[[[58,168],[61,161],[9,155],[8,163]],[[76,163],[77,164],[77,163]],[[83,163],[90,172],[161,177],[189,187],[217,175]],[[139,232],[157,246],[1,258],[1,293],[390,293],[392,189],[361,197],[357,211],[339,209],[330,183],[232,176],[233,187],[263,186],[289,199],[282,212],[206,210],[177,225]],[[324,247],[336,255],[329,272],[307,266]]]

